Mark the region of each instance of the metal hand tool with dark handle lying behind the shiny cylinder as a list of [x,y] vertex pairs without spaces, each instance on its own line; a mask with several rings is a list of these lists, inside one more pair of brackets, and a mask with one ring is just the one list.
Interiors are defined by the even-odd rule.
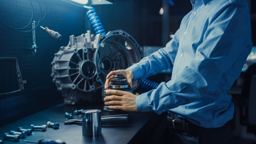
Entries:
[[[102,116],[101,117],[101,124],[107,123],[125,123],[129,121],[129,114],[125,115],[110,115],[110,116]],[[68,124],[82,124],[82,119],[71,119],[64,121],[65,125]]]

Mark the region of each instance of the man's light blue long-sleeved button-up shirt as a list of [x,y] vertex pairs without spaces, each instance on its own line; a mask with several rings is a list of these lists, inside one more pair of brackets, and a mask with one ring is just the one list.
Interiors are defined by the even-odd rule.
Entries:
[[168,110],[202,127],[220,127],[232,119],[228,93],[252,48],[245,0],[191,0],[191,10],[165,48],[129,70],[134,80],[171,68],[172,79],[136,98],[138,110]]

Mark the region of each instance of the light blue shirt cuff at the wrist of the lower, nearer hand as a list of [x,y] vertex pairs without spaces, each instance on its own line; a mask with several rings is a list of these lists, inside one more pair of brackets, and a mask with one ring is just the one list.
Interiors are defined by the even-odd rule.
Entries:
[[147,102],[147,93],[143,93],[136,97],[136,107],[141,112],[154,111]]

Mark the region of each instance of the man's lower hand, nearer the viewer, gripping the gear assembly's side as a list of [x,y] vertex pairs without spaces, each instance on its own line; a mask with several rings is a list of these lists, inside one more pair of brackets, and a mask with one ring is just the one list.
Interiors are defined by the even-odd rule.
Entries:
[[[106,94],[114,94],[111,96],[106,96],[104,98],[105,105],[116,105],[109,106],[110,109],[121,109],[128,112],[138,112],[139,110],[136,107],[136,97],[138,93],[132,94],[130,92],[118,91],[118,90],[108,90]],[[113,101],[109,101],[113,100]]]

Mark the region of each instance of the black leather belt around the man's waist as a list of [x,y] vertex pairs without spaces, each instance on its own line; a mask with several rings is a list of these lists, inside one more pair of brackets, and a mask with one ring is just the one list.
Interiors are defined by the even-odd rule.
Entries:
[[218,127],[218,128],[205,128],[205,127],[195,125],[185,118],[179,118],[172,114],[168,114],[167,121],[168,121],[169,127],[176,129],[176,130],[188,132],[188,133],[216,130],[218,128],[223,128],[223,127],[228,126],[228,124],[226,123],[223,126]]

